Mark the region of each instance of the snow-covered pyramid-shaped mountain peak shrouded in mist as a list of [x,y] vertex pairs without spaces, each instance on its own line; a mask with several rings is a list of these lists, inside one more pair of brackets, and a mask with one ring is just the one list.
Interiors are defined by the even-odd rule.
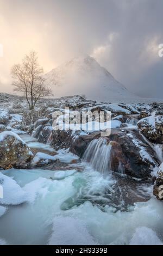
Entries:
[[130,93],[121,83],[90,56],[70,60],[45,76],[55,97],[85,95],[97,101],[127,102],[139,97]]

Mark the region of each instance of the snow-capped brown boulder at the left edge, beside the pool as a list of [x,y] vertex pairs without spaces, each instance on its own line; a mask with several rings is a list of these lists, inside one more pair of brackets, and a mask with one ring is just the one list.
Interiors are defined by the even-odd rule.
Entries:
[[32,152],[16,133],[11,131],[0,133],[1,168],[27,168],[32,159]]

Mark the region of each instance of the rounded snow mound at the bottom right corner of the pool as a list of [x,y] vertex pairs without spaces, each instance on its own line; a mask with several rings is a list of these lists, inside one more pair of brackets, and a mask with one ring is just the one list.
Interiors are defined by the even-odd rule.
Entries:
[[147,227],[136,228],[129,245],[163,245],[155,231]]

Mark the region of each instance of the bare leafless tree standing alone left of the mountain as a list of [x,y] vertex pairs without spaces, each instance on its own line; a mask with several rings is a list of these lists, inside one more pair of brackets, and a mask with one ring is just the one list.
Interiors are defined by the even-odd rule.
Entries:
[[34,109],[41,97],[52,96],[52,90],[45,87],[42,77],[43,69],[38,63],[37,53],[32,51],[22,60],[22,64],[12,66],[11,75],[14,79],[12,85],[15,91],[26,96],[29,109]]

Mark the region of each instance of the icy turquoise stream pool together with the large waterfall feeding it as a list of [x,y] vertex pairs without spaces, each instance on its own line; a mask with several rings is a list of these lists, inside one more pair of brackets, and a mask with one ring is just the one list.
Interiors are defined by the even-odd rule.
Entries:
[[[152,186],[108,171],[110,156],[111,144],[102,138],[89,144],[81,162],[68,163],[71,169],[4,170],[4,181],[15,182],[8,202],[12,196],[16,205],[3,205],[0,244],[162,244],[162,202],[152,196]],[[24,202],[13,192],[18,190]]]

